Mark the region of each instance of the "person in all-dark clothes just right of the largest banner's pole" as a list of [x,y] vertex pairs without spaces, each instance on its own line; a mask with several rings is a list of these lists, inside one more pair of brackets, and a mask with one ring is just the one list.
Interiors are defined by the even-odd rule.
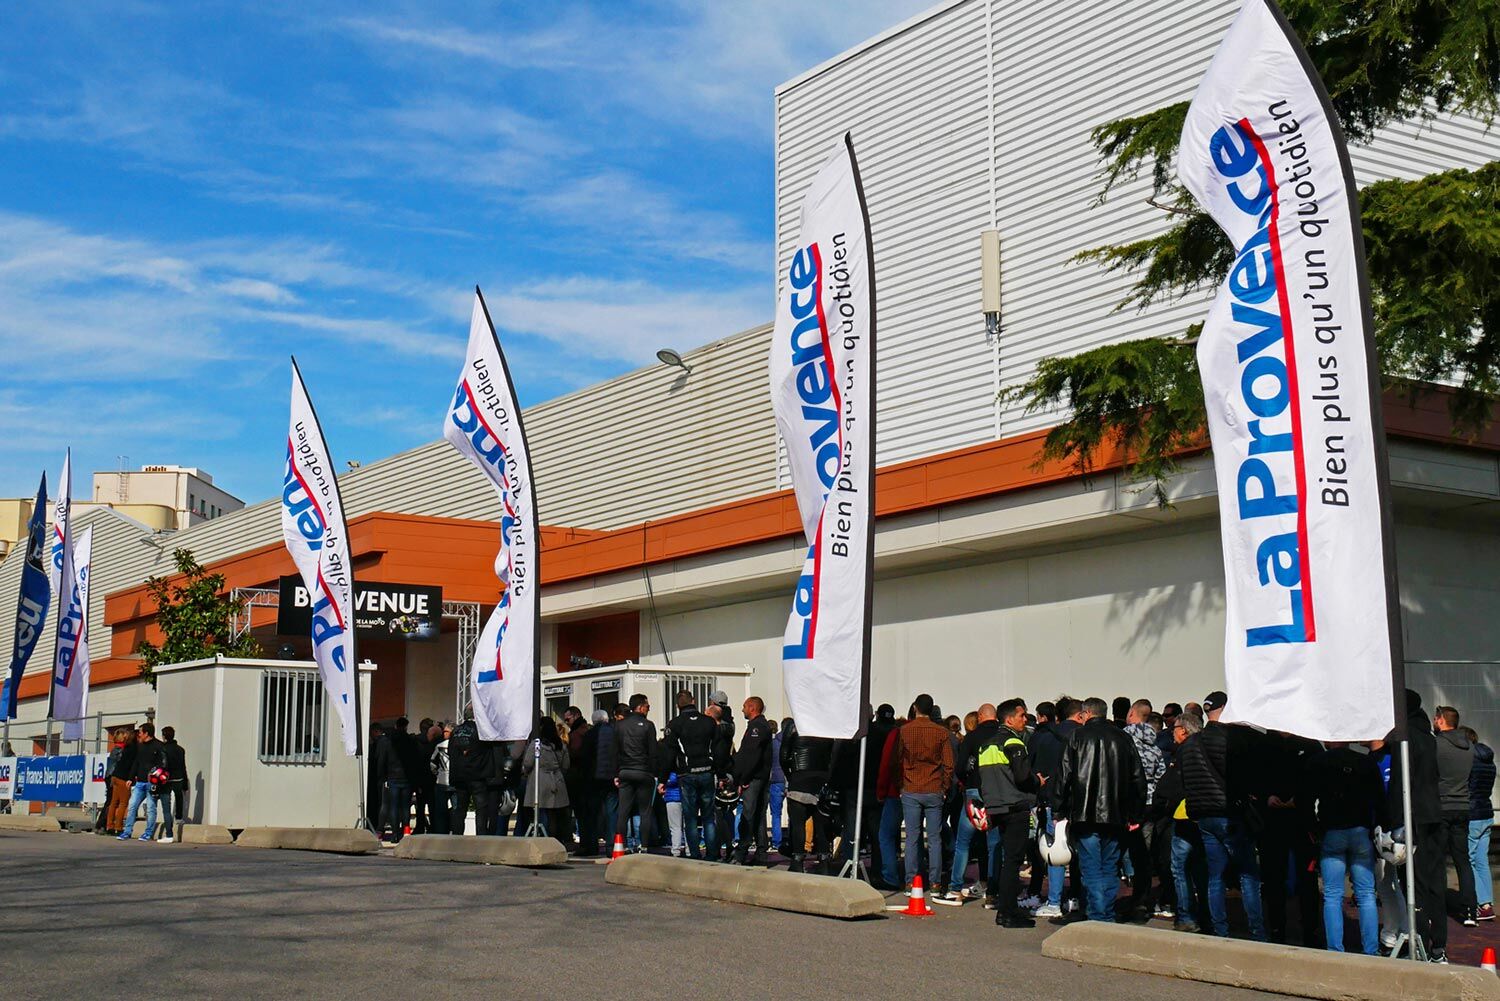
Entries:
[[[1443,860],[1443,806],[1438,797],[1437,738],[1432,735],[1432,720],[1422,710],[1422,696],[1407,689],[1407,753],[1412,758],[1412,825],[1414,837],[1413,866],[1416,867],[1416,932],[1426,944],[1431,959],[1448,957],[1448,866]],[[1390,782],[1386,785],[1386,830],[1406,831],[1406,809],[1401,795],[1402,765],[1401,741],[1386,738],[1390,749]],[[1431,846],[1424,851],[1424,845]],[[1406,879],[1406,866],[1401,867]],[[1407,887],[1407,893],[1412,893]]]

